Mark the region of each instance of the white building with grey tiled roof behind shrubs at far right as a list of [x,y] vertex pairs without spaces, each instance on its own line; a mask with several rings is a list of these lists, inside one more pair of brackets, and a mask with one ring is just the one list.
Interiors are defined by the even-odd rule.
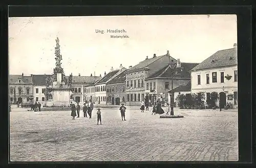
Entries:
[[237,44],[232,49],[221,50],[190,70],[191,93],[204,92],[206,100],[211,92],[218,92],[223,106],[231,103],[238,107]]

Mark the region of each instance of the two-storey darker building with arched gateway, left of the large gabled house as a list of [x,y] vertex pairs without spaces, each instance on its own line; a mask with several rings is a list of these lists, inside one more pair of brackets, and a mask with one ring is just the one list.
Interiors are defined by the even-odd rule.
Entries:
[[122,73],[106,83],[106,104],[126,104],[125,71],[122,71]]

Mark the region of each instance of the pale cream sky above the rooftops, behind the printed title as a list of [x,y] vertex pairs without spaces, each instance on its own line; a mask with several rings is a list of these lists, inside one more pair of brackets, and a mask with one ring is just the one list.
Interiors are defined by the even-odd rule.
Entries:
[[[107,33],[108,29],[126,32]],[[52,74],[58,37],[66,76],[103,76],[112,66],[128,68],[167,50],[181,62],[200,63],[237,43],[237,16],[10,17],[8,31],[9,74]]]

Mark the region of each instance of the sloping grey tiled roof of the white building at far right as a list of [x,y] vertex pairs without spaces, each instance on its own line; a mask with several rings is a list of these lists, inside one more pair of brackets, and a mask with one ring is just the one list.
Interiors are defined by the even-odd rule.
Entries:
[[237,63],[237,49],[226,49],[211,55],[199,65],[191,69],[191,71],[231,66],[236,65]]

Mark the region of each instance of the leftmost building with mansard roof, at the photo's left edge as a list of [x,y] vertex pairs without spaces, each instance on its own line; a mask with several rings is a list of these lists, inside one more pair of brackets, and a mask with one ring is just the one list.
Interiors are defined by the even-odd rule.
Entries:
[[31,98],[33,98],[32,76],[9,75],[10,104],[29,103]]

